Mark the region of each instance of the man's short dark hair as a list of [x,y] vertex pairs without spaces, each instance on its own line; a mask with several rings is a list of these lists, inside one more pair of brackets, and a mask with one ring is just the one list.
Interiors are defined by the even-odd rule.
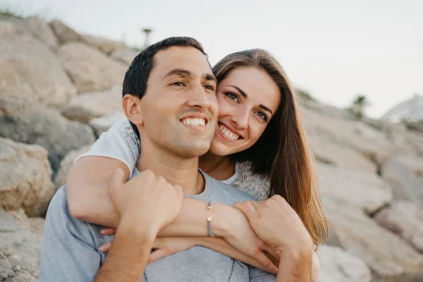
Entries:
[[128,71],[125,73],[122,97],[124,97],[125,94],[133,94],[135,97],[141,99],[147,90],[147,80],[149,78],[149,74],[154,68],[154,55],[156,55],[158,51],[174,46],[193,47],[200,50],[207,59],[207,54],[204,52],[202,44],[194,38],[168,37],[163,39],[142,50],[141,53],[133,59]]

